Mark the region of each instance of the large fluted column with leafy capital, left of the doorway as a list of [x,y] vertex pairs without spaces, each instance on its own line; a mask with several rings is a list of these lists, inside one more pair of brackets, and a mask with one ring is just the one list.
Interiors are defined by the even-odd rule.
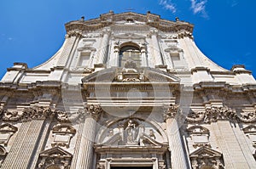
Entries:
[[78,160],[76,165],[73,165],[72,168],[84,168],[91,169],[93,168],[92,161],[94,155],[93,146],[95,144],[96,136],[96,121],[101,114],[100,105],[89,105],[84,110],[84,128],[81,135],[81,141],[78,152]]

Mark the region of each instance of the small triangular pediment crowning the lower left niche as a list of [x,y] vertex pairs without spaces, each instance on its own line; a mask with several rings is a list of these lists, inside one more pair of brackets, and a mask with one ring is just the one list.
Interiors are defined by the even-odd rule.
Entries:
[[60,147],[54,147],[52,149],[46,149],[40,153],[40,156],[52,157],[52,156],[61,156],[66,158],[71,158],[72,154],[68,153],[66,150],[61,149]]

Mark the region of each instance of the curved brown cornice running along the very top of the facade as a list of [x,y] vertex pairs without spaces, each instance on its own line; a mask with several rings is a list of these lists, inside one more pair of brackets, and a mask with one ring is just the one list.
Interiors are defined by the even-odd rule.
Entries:
[[[189,22],[184,21],[170,21],[160,19],[160,15],[157,14],[137,14],[137,13],[121,13],[121,14],[113,14],[110,11],[108,14],[101,14],[100,18],[92,19],[92,20],[74,20],[68,22],[65,27],[67,34],[70,32],[79,31],[79,32],[90,32],[102,29],[103,27],[114,25],[120,20],[137,20],[144,22],[145,25],[149,25],[154,27],[160,31],[164,32],[178,32],[178,31],[186,31],[187,34],[192,34],[194,25],[189,24]],[[185,34],[181,34],[183,37]],[[191,35],[190,35],[191,36]]]

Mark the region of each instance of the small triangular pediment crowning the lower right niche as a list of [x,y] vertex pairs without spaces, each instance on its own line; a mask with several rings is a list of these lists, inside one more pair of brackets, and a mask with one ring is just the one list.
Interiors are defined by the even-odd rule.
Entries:
[[221,157],[222,154],[214,149],[207,148],[206,146],[196,149],[189,157]]

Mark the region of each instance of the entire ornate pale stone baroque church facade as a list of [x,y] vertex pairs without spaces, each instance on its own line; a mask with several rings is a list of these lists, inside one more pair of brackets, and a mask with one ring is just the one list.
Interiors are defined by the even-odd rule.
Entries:
[[194,25],[109,11],[65,27],[0,82],[0,168],[256,168],[256,81],[202,54]]

